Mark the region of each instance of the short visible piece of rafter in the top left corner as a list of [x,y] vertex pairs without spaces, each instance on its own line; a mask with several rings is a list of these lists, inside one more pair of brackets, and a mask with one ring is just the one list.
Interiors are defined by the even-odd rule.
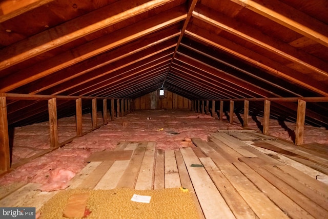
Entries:
[[0,23],[54,0],[4,0],[0,2]]

